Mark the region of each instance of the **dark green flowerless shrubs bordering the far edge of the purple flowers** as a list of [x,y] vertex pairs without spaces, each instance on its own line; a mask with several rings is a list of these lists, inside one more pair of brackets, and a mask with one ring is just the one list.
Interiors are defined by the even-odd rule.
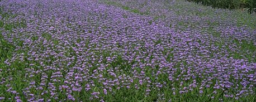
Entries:
[[214,8],[245,9],[248,13],[256,12],[256,0],[187,0]]

